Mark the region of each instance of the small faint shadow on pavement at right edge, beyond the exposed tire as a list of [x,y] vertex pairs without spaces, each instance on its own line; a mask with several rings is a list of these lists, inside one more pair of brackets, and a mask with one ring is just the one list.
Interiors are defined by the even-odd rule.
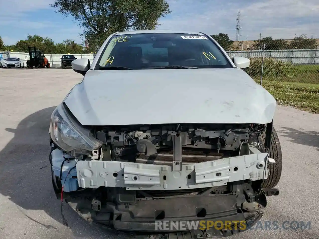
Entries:
[[293,128],[282,127],[285,130],[278,130],[293,143],[316,147],[319,150],[319,132],[316,131],[300,131]]

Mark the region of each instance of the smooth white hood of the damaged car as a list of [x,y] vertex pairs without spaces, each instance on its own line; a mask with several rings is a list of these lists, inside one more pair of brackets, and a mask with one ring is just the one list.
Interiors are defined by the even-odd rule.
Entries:
[[89,70],[64,99],[82,125],[259,123],[273,96],[240,69]]

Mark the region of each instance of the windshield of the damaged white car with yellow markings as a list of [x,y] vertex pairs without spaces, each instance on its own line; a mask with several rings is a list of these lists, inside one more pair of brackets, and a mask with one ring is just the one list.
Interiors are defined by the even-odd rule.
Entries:
[[169,66],[232,68],[216,44],[203,35],[141,33],[114,36],[96,69],[152,69]]

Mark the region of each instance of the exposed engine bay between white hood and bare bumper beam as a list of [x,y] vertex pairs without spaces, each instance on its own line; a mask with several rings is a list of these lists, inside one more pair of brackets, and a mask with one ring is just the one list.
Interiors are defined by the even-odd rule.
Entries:
[[103,142],[103,161],[170,165],[192,164],[244,154],[244,143],[260,148],[259,124],[178,124],[103,127],[96,138]]

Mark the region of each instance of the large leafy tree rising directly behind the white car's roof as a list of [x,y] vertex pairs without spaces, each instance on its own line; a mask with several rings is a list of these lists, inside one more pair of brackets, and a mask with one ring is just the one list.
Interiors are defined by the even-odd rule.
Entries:
[[84,28],[82,37],[96,50],[114,32],[154,29],[169,14],[166,0],[55,0],[53,8]]

